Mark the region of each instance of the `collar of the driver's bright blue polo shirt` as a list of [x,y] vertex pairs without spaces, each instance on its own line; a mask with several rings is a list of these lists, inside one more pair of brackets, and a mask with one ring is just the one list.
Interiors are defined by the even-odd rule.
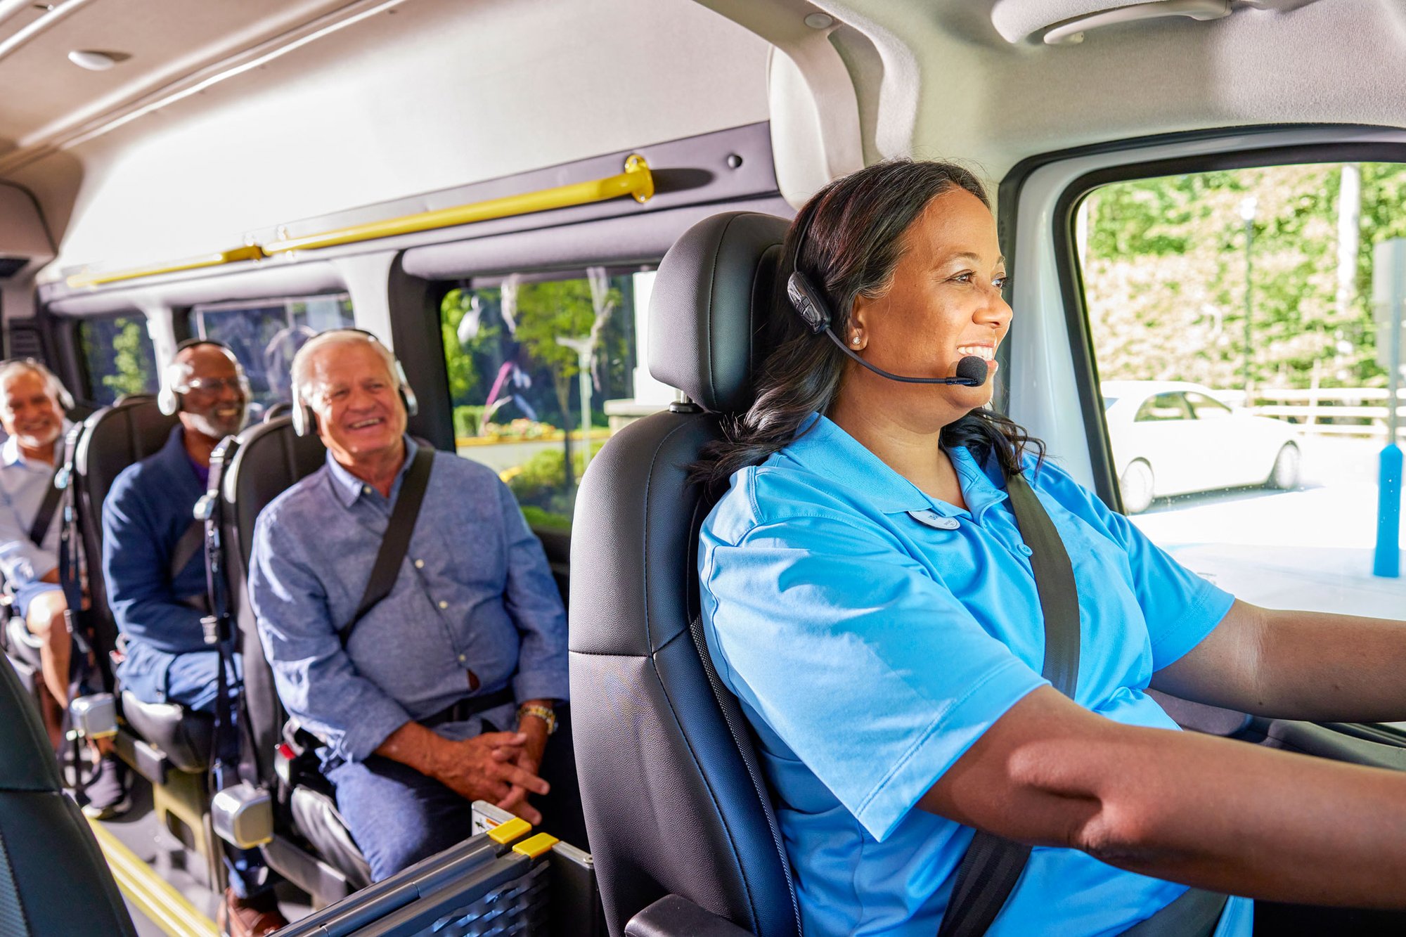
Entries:
[[[965,446],[948,449],[948,454],[960,478],[962,497],[972,516],[980,518],[993,504],[1007,498],[1001,468],[994,459],[987,459],[984,466],[977,464]],[[934,511],[945,518],[963,514],[955,505],[929,498],[838,423],[820,414],[813,414],[801,423],[796,439],[779,456],[849,488],[880,514]]]

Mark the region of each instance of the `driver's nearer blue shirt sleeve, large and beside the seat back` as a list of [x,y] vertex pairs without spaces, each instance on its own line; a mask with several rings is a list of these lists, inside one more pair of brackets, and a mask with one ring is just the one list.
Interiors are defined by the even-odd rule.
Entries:
[[735,543],[704,528],[702,547],[720,675],[877,840],[1047,682],[862,519],[787,518]]

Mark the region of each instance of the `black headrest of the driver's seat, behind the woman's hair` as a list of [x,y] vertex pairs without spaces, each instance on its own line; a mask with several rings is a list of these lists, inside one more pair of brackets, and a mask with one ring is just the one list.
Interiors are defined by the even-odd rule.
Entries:
[[706,218],[659,263],[650,298],[650,373],[703,409],[752,402],[754,339],[766,325],[789,221],[755,211]]

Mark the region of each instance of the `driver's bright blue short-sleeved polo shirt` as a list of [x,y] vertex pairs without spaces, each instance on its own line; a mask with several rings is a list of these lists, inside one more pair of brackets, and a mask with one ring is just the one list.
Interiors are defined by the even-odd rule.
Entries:
[[[759,737],[817,934],[922,934],[973,831],[918,799],[1036,687],[1043,619],[1031,549],[994,463],[950,450],[967,509],[929,498],[824,416],[733,476],[703,523],[703,630]],[[1076,701],[1177,732],[1146,695],[1233,597],[1182,568],[1046,461],[1026,478],[1074,567]],[[1118,934],[1185,886],[1069,848],[1035,848],[991,930]],[[1216,934],[1249,936],[1232,899]]]

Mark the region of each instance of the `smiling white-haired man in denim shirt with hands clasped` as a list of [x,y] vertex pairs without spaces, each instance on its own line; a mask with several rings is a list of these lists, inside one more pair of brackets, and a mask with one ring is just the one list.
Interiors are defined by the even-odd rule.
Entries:
[[433,456],[394,588],[339,640],[418,452],[402,380],[366,332],[298,352],[294,404],[315,414],[328,461],[259,515],[249,575],[278,695],[325,743],[375,881],[470,836],[471,801],[540,822],[527,795],[548,791],[540,768],[568,692],[541,544],[492,470],[449,453]]

